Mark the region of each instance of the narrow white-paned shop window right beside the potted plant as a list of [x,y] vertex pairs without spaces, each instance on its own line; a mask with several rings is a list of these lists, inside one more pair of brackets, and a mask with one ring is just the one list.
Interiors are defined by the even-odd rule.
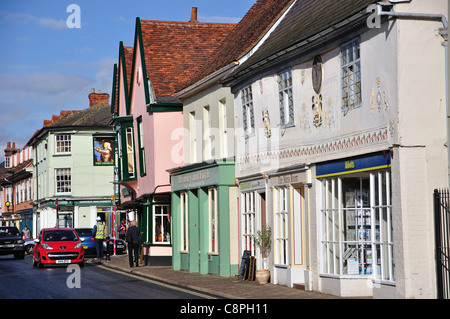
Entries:
[[289,239],[289,191],[288,187],[274,189],[275,210],[275,264],[289,264],[288,239]]

